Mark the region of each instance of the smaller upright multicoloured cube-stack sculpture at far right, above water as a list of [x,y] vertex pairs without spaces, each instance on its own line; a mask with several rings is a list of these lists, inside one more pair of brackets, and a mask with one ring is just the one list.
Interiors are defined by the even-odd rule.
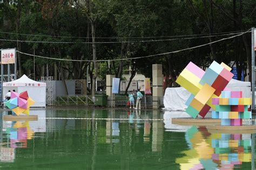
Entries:
[[241,126],[242,119],[252,118],[248,105],[252,104],[251,98],[242,98],[242,91],[221,91],[220,98],[212,98],[216,110],[212,118],[220,118],[221,125]]

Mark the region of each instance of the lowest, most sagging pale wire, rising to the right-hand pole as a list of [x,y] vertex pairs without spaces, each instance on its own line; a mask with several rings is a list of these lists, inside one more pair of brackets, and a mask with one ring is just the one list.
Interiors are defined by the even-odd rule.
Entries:
[[105,62],[105,61],[134,60],[134,59],[149,58],[151,56],[159,56],[159,55],[166,55],[166,54],[171,54],[171,53],[178,53],[178,52],[186,51],[186,50],[189,50],[189,49],[199,48],[199,47],[207,46],[207,45],[210,45],[210,44],[214,44],[214,43],[219,42],[219,41],[224,41],[224,40],[231,39],[231,38],[234,38],[234,37],[239,37],[239,36],[242,36],[242,34],[245,34],[245,33],[248,33],[248,32],[250,32],[250,30],[248,30],[246,32],[242,32],[242,33],[240,33],[238,35],[235,35],[235,36],[232,36],[232,37],[223,38],[223,39],[220,39],[220,40],[217,40],[217,41],[208,42],[208,43],[203,44],[203,45],[194,46],[194,47],[190,47],[190,48],[184,48],[184,49],[180,49],[180,50],[177,50],[177,51],[172,51],[172,52],[167,52],[167,53],[160,53],[160,54],[153,54],[153,55],[147,55],[147,56],[139,56],[139,57],[134,57],[134,58],[114,59],[114,60],[70,60],[70,59],[49,58],[49,57],[46,57],[46,56],[40,56],[40,55],[33,55],[33,54],[23,53],[23,52],[20,52],[20,51],[17,51],[17,52],[21,53],[21,54],[25,54],[25,55],[37,56],[38,58],[51,59],[51,60],[59,60],[59,61],[79,61],[79,62],[81,62],[81,61],[87,61],[87,62],[96,61],[96,62]]

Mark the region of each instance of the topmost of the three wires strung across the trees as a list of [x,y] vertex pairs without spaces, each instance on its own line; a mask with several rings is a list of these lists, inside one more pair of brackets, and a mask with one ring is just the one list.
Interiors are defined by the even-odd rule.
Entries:
[[[221,35],[227,33],[240,33],[244,31],[230,31],[230,32],[219,32],[219,33],[211,33],[211,34],[191,34],[191,35],[182,35],[182,36],[159,36],[159,37],[95,37],[96,39],[144,39],[144,38],[172,38],[172,37],[194,37],[194,36],[210,36],[210,35]],[[42,34],[24,34],[24,33],[15,33],[15,32],[2,32],[3,34],[15,34],[15,35],[22,35],[22,36],[34,36],[34,37],[53,37],[53,38],[89,38],[92,37],[72,37],[72,36],[49,36],[49,35],[42,35]]]

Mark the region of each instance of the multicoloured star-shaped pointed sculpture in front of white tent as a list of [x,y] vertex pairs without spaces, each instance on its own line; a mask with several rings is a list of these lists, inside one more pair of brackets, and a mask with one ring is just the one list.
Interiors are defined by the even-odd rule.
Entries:
[[29,115],[29,109],[33,104],[35,104],[35,101],[28,96],[28,91],[24,91],[21,94],[11,91],[11,99],[5,102],[5,105],[16,115]]

